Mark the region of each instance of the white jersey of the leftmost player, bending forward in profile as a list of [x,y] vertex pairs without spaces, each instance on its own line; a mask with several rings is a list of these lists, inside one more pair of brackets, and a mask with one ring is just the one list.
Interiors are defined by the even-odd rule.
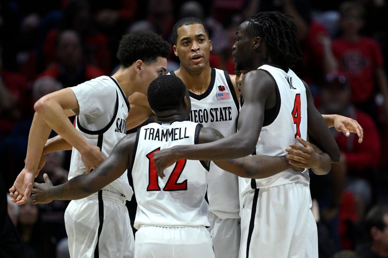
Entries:
[[[116,143],[126,136],[127,124],[126,118],[129,113],[129,103],[124,92],[122,91],[120,85],[113,77],[109,76],[100,76],[95,79],[88,81],[89,85],[102,84],[103,87],[112,89],[110,94],[115,95],[115,103],[112,103],[110,106],[102,108],[105,109],[105,113],[113,109],[112,119],[105,125],[105,127],[100,130],[91,130],[90,127],[94,126],[90,121],[89,115],[80,115],[76,117],[74,121],[74,126],[77,131],[91,144],[98,146],[101,150],[102,156],[107,158],[113,150],[113,147]],[[82,84],[81,84],[82,86]],[[85,92],[87,94],[87,92]],[[101,98],[104,96],[101,96]],[[98,102],[98,99],[96,99]],[[68,180],[72,179],[75,176],[85,174],[85,166],[81,160],[81,154],[75,148],[73,148],[71,153],[70,161],[70,170],[68,175]],[[109,185],[102,188],[107,191],[116,192],[127,197],[128,200],[131,199],[133,195],[132,188],[129,186],[127,171],[123,171],[123,174],[110,183]]]

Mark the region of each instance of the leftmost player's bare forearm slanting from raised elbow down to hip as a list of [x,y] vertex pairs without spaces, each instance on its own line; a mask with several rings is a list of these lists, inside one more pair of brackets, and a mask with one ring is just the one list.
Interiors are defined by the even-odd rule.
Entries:
[[34,108],[44,121],[79,152],[88,151],[90,144],[77,132],[65,110],[55,101],[38,101]]

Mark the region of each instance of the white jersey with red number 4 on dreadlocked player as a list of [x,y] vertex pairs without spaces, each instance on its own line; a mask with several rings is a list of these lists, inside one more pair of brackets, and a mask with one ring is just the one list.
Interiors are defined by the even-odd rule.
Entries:
[[[276,84],[276,107],[272,117],[264,116],[263,127],[256,145],[257,154],[285,155],[286,148],[296,141],[296,136],[307,139],[307,98],[302,80],[289,69],[286,73],[271,65],[258,70],[267,72]],[[242,193],[250,189],[277,186],[291,182],[309,183],[308,170],[303,173],[287,169],[264,179],[242,179]]]

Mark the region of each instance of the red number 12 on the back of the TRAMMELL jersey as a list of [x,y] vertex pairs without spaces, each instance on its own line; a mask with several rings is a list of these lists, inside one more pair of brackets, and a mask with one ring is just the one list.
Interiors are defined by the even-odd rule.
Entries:
[[[160,151],[161,148],[157,148],[152,152],[149,152],[146,157],[149,161],[148,167],[148,186],[147,191],[161,191],[158,182],[158,174],[156,173],[155,163],[154,163],[154,153]],[[163,188],[163,191],[184,191],[187,190],[187,179],[183,182],[178,183],[180,174],[182,174],[183,168],[186,165],[185,159],[180,159],[175,164],[175,167],[167,180],[166,185]]]

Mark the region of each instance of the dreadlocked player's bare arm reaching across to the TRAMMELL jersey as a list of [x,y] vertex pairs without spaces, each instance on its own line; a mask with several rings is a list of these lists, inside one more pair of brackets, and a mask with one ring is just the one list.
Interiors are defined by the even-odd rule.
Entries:
[[[162,170],[179,159],[225,160],[254,152],[264,120],[264,109],[275,106],[275,82],[265,72],[256,70],[244,76],[243,84],[241,93],[244,105],[238,120],[239,131],[215,142],[175,146],[155,153],[154,162],[158,173],[162,174]],[[269,97],[273,98],[273,106],[266,106],[270,105],[266,101]]]

